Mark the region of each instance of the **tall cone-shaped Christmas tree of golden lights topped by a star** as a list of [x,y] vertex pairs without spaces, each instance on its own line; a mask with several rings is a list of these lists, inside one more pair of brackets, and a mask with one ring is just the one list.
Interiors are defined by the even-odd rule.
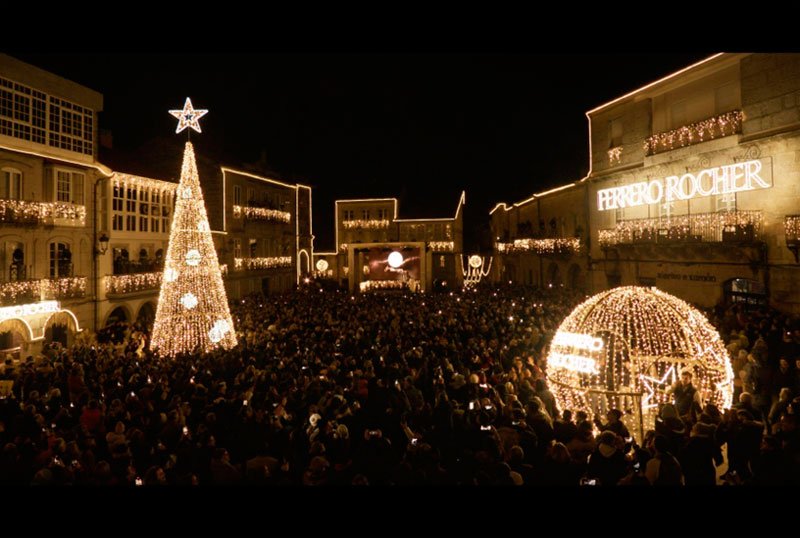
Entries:
[[[187,127],[200,132],[197,120],[206,112],[194,110],[189,99],[182,111],[170,111],[180,119],[177,132]],[[194,148],[186,142],[150,348],[161,356],[174,357],[235,345]]]

